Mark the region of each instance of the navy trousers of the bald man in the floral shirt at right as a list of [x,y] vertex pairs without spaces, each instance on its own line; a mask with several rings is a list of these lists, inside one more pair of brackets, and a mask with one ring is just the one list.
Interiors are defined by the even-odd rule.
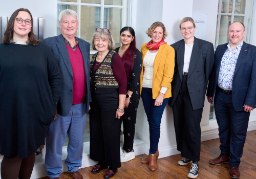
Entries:
[[214,109],[219,125],[221,153],[230,155],[230,167],[239,167],[250,113],[234,109],[232,95],[224,94],[219,89],[215,94]]

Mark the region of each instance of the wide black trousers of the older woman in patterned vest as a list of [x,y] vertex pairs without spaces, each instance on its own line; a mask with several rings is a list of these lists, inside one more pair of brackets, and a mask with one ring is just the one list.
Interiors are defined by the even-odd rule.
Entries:
[[116,118],[118,90],[113,94],[92,93],[90,110],[90,159],[121,167],[120,128],[122,119]]

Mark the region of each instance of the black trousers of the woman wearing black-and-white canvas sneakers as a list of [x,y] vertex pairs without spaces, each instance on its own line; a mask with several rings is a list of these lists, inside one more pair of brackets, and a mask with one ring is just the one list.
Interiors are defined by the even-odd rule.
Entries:
[[192,161],[200,160],[203,108],[193,110],[187,88],[187,75],[182,75],[181,88],[173,105],[177,150]]

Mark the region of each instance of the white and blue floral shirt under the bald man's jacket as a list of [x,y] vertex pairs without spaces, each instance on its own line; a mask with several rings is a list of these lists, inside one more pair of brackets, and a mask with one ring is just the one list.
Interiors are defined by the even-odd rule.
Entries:
[[236,70],[238,56],[244,41],[240,43],[236,48],[231,51],[230,42],[227,44],[227,50],[221,59],[220,74],[218,79],[218,85],[225,90],[232,90],[232,82],[234,76],[234,70]]

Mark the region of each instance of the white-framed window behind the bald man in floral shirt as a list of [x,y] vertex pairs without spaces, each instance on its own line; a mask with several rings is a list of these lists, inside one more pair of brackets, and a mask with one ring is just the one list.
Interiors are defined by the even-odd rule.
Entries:
[[[254,0],[219,0],[215,48],[219,44],[229,42],[228,27],[238,21],[245,26],[244,41],[250,43],[253,4]],[[209,119],[216,119],[214,104],[210,104]]]

